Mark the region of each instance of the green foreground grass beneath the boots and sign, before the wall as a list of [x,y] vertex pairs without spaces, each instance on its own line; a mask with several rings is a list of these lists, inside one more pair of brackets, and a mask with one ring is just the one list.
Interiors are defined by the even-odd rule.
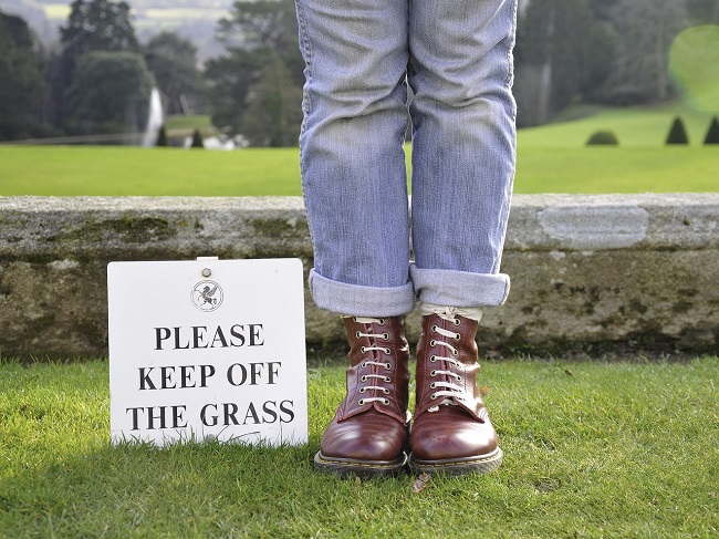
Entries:
[[300,447],[108,443],[107,363],[0,362],[0,537],[717,537],[719,360],[488,361],[506,452],[479,477],[312,470],[343,366],[309,370]]

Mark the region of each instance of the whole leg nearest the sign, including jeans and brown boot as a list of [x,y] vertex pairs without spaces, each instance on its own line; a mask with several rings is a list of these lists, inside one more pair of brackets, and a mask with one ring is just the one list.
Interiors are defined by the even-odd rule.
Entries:
[[314,247],[312,297],[346,314],[347,395],[315,467],[395,474],[406,463],[409,282],[406,0],[298,0],[306,63],[300,137]]

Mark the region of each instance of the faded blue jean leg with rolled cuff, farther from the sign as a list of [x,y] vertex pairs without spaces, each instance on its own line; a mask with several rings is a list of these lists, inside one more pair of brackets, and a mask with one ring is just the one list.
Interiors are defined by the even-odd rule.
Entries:
[[410,269],[421,301],[501,304],[515,159],[515,0],[409,0]]

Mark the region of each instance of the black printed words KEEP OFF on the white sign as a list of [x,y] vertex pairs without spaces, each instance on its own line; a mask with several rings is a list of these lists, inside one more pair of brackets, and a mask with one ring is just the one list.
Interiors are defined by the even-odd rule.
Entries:
[[[233,386],[277,384],[282,366],[281,361],[250,362],[247,365],[233,363],[225,373],[228,383]],[[184,390],[189,387],[207,387],[209,379],[217,370],[213,365],[171,365],[140,366],[139,390]]]

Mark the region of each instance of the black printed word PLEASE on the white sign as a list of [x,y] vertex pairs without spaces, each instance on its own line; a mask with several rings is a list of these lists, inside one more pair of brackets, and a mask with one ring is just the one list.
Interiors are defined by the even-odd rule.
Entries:
[[155,328],[155,350],[165,350],[165,346],[170,350],[261,346],[264,344],[261,331],[262,324],[247,324],[247,328],[235,324],[226,329],[220,325],[215,329],[207,325]]

